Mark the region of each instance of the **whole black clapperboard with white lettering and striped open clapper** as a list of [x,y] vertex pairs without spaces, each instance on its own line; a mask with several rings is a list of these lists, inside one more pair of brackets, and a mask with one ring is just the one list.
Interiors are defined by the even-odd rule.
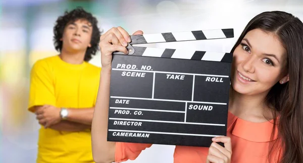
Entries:
[[113,53],[108,141],[209,147],[226,136],[232,53],[132,46],[221,39],[233,29],[132,35]]

